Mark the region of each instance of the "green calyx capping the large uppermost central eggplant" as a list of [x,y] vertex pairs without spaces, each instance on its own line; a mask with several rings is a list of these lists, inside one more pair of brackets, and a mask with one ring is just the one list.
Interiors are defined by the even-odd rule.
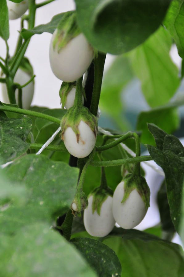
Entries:
[[67,43],[81,33],[78,25],[75,11],[68,11],[64,13],[57,28],[56,35],[53,41],[53,48],[57,45],[59,51],[67,45]]

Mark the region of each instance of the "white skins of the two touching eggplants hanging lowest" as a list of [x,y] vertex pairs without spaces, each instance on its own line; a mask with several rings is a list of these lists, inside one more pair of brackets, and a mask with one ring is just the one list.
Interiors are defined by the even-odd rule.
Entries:
[[145,217],[148,207],[134,189],[124,203],[124,181],[118,184],[113,197],[108,195],[101,205],[100,215],[97,210],[93,212],[93,195],[88,197],[88,207],[84,210],[84,226],[86,231],[94,237],[108,235],[115,222],[124,229],[136,227]]

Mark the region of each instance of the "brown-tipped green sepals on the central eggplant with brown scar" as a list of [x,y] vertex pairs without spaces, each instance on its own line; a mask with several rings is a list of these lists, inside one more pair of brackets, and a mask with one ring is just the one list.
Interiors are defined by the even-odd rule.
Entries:
[[61,139],[64,141],[63,134],[68,127],[71,127],[74,133],[76,134],[77,143],[79,143],[79,123],[80,121],[84,121],[92,132],[94,133],[95,137],[97,136],[98,129],[97,129],[97,118],[94,116],[87,107],[84,106],[72,106],[67,113],[61,119]]

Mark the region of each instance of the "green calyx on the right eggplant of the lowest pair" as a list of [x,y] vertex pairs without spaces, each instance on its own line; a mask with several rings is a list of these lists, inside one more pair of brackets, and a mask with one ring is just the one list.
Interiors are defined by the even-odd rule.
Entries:
[[124,197],[121,203],[125,203],[125,201],[129,198],[130,193],[136,189],[139,195],[141,196],[142,200],[144,201],[146,209],[148,209],[150,206],[150,190],[145,178],[141,175],[128,174],[122,181],[124,181],[125,183]]

